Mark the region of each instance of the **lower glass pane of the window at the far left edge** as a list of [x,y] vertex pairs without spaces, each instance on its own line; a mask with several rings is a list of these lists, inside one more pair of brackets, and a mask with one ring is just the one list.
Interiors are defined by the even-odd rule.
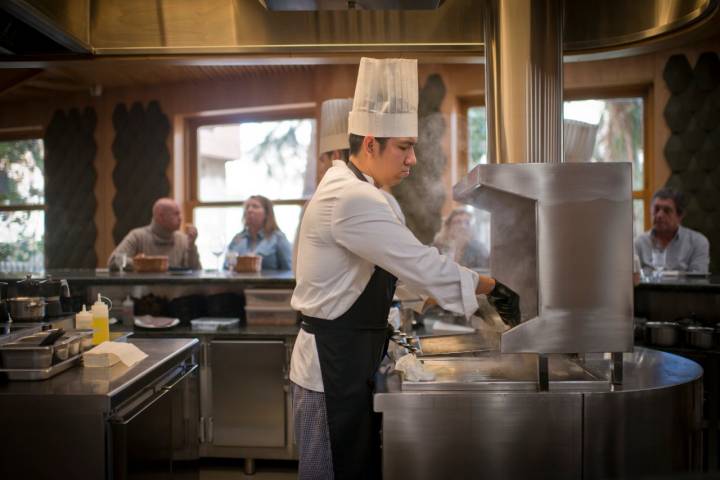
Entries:
[[0,271],[42,271],[44,234],[44,211],[0,212]]

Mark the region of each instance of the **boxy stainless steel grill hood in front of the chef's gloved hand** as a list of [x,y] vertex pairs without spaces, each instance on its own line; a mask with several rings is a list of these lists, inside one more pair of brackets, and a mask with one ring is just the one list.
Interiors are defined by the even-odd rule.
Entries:
[[490,268],[521,298],[502,352],[632,350],[629,163],[479,165],[456,200],[491,212]]

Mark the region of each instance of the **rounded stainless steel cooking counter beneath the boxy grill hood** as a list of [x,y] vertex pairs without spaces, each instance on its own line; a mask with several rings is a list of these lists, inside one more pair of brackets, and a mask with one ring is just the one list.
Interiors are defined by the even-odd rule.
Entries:
[[600,355],[586,356],[584,368],[551,357],[548,392],[531,388],[529,357],[426,362],[437,378],[424,386],[381,377],[374,406],[385,478],[606,479],[698,468],[703,372],[685,358],[637,348],[624,355],[618,386]]

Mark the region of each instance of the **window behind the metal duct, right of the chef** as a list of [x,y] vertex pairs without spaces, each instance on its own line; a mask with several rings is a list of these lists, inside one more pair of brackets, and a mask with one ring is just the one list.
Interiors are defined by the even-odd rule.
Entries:
[[[600,96],[598,96],[600,97]],[[487,163],[487,123],[482,100],[467,102],[468,170]],[[649,201],[646,185],[650,177],[645,161],[645,109],[643,94],[608,98],[573,98],[564,102],[566,119],[598,126],[592,162],[631,162],[633,184],[634,234],[649,227]]]

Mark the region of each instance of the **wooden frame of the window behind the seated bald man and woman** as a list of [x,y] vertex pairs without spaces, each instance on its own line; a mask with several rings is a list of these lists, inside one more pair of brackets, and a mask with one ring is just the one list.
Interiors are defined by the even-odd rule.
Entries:
[[[188,141],[186,142],[186,155],[187,165],[186,171],[187,182],[187,202],[185,208],[185,218],[192,218],[195,220],[195,209],[201,207],[240,207],[243,208],[245,205],[244,200],[228,200],[228,201],[201,201],[199,199],[198,191],[200,185],[200,177],[198,171],[198,130],[201,127],[208,125],[229,125],[237,123],[248,123],[248,122],[267,122],[267,121],[280,121],[280,120],[301,120],[301,119],[313,119],[316,122],[317,118],[314,104],[302,104],[298,107],[282,107],[263,109],[258,108],[253,111],[242,112],[242,113],[231,113],[222,115],[211,115],[211,116],[196,116],[188,118],[185,121],[185,132]],[[317,136],[317,128],[314,134]],[[313,161],[315,159],[308,159]],[[258,192],[262,194],[262,192]],[[298,205],[302,207],[307,201],[306,198],[291,198],[276,200],[271,198],[273,205]]]

